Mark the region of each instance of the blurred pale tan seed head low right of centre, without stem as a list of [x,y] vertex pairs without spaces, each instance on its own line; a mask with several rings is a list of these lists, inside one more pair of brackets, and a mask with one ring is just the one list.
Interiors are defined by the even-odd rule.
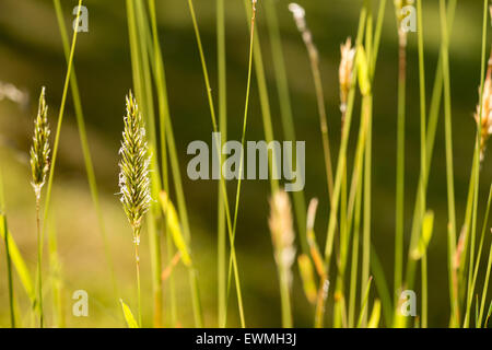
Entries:
[[291,202],[289,195],[284,190],[277,191],[270,199],[270,219],[268,223],[276,250],[277,265],[279,268],[288,270],[290,280],[292,280],[291,267],[295,259],[295,234]]

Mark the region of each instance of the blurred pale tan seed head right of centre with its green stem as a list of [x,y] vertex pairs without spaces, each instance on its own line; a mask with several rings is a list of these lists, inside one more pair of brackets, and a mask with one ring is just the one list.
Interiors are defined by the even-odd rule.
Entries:
[[280,299],[282,302],[282,326],[292,327],[290,290],[292,285],[292,265],[295,260],[294,229],[289,195],[284,190],[273,194],[270,200],[269,226],[274,257],[279,272]]

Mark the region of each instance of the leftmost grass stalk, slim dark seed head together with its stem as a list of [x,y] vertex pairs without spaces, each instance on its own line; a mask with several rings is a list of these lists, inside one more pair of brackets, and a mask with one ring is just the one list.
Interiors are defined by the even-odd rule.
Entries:
[[45,88],[42,89],[39,95],[39,105],[37,116],[34,120],[34,137],[31,147],[31,170],[33,175],[32,186],[36,196],[36,229],[37,229],[37,273],[38,273],[38,308],[39,308],[39,327],[43,328],[43,276],[42,276],[42,228],[40,228],[40,196],[43,186],[46,183],[46,176],[49,172],[50,164],[50,147],[49,136],[51,131],[48,124],[48,106],[45,100]]

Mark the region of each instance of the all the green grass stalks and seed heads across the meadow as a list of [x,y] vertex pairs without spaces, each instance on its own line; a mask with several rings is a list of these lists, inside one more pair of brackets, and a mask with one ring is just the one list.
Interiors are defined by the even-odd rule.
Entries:
[[[79,1],[79,7],[82,1]],[[433,232],[441,230],[435,228],[434,212],[427,208],[427,184],[432,170],[432,156],[434,151],[437,120],[441,114],[441,105],[444,102],[444,149],[446,163],[446,191],[447,191],[447,271],[449,294],[449,327],[487,327],[491,315],[491,306],[487,310],[489,279],[492,269],[492,245],[487,259],[487,268],[483,269],[482,260],[485,258],[489,229],[489,213],[492,202],[492,186],[484,206],[483,222],[480,226],[479,201],[481,179],[481,162],[484,154],[484,140],[489,137],[489,129],[483,129],[483,120],[490,118],[489,110],[483,102],[489,101],[485,95],[490,85],[490,67],[487,65],[487,38],[489,11],[488,1],[483,1],[483,24],[481,34],[481,69],[480,93],[478,112],[476,115],[477,131],[473,147],[473,155],[466,197],[466,210],[460,234],[457,234],[457,208],[455,205],[455,158],[453,138],[453,100],[452,77],[449,66],[450,32],[457,5],[456,0],[440,0],[440,32],[441,47],[434,78],[433,91],[427,105],[426,69],[425,69],[425,34],[422,1],[417,0],[417,52],[419,78],[419,114],[420,114],[420,175],[415,191],[413,218],[411,222],[410,242],[406,244],[405,230],[405,161],[406,161],[406,110],[407,110],[407,40],[408,35],[402,31],[400,10],[405,1],[395,1],[395,10],[398,25],[398,100],[397,100],[397,164],[396,164],[396,208],[395,208],[395,270],[393,283],[388,283],[382,261],[374,245],[373,233],[373,117],[374,85],[376,80],[376,67],[379,52],[380,37],[385,25],[385,12],[387,1],[378,2],[376,14],[373,1],[365,0],[361,8],[359,27],[354,46],[347,40],[341,47],[341,62],[339,69],[340,88],[340,145],[336,158],[336,167],[331,165],[330,139],[328,130],[333,132],[328,118],[325,102],[325,88],[327,83],[321,81],[321,61],[314,44],[313,34],[306,25],[305,11],[298,5],[291,4],[294,20],[301,32],[304,45],[309,58],[312,81],[314,83],[314,97],[316,101],[321,133],[323,159],[325,162],[326,185],[328,187],[329,214],[326,228],[326,236],[317,237],[315,234],[315,215],[317,199],[313,199],[306,210],[305,195],[303,191],[293,195],[293,213],[291,212],[290,197],[282,190],[279,180],[270,179],[270,218],[269,226],[273,247],[273,257],[277,265],[280,292],[280,310],[282,327],[296,325],[294,300],[292,295],[293,265],[297,261],[301,281],[305,296],[313,311],[313,326],[324,327],[433,327],[429,315],[429,255]],[[56,168],[57,151],[59,149],[61,122],[68,98],[69,84],[74,101],[75,116],[85,162],[86,176],[90,185],[92,200],[96,210],[99,231],[103,236],[103,245],[106,259],[112,272],[115,293],[117,294],[116,278],[113,276],[112,257],[106,240],[104,215],[101,210],[99,195],[96,185],[96,176],[92,163],[89,140],[85,130],[82,103],[78,89],[77,77],[73,69],[74,49],[77,43],[77,27],[69,47],[67,31],[62,21],[62,9],[59,0],[54,0],[62,38],[63,51],[68,65],[67,75],[61,97],[61,107],[57,120],[52,159],[49,156],[49,131],[47,131],[46,106],[44,93],[39,103],[39,115],[36,119],[34,145],[32,151],[33,184],[36,190],[37,212],[37,272],[33,283],[30,271],[8,228],[3,192],[0,191],[0,232],[7,252],[8,293],[11,327],[22,326],[21,313],[16,310],[19,298],[13,288],[13,270],[15,268],[23,288],[26,290],[32,304],[31,317],[39,315],[39,326],[45,325],[43,312],[43,234],[49,230],[49,256],[50,272],[52,275],[52,308],[55,318],[52,324],[62,327],[63,322],[63,278],[58,260],[57,237],[54,217],[49,215],[50,198]],[[290,97],[288,82],[288,60],[283,55],[282,37],[279,27],[279,18],[272,0],[257,2],[244,0],[245,14],[248,21],[248,56],[247,75],[245,89],[245,104],[242,120],[241,143],[246,142],[249,105],[251,98],[253,77],[257,81],[259,104],[262,116],[262,127],[267,142],[274,140],[273,118],[271,102],[269,100],[269,83],[267,79],[261,43],[258,36],[257,16],[265,15],[272,60],[274,63],[273,81],[277,88],[280,106],[281,122],[284,139],[296,140],[294,126],[294,113]],[[179,310],[177,307],[177,288],[175,284],[174,267],[183,264],[188,273],[191,307],[196,327],[207,324],[201,310],[201,296],[199,293],[198,270],[204,269],[197,265],[191,245],[191,228],[188,220],[188,206],[185,200],[181,174],[179,172],[179,158],[173,132],[169,102],[167,96],[166,77],[163,52],[157,27],[157,8],[154,0],[140,2],[127,0],[127,21],[129,46],[131,51],[131,71],[136,97],[127,97],[127,115],[125,117],[124,140],[120,151],[120,190],[121,201],[133,232],[136,268],[137,268],[137,304],[138,317],[133,317],[131,307],[120,300],[121,310],[129,327],[145,327],[150,325],[150,317],[144,313],[142,295],[147,295],[140,282],[140,252],[139,243],[141,233],[147,233],[150,246],[151,280],[152,280],[152,326],[162,327],[163,312],[168,313],[168,325],[179,325]],[[226,65],[226,30],[224,0],[216,0],[216,40],[218,40],[218,85],[219,94],[212,94],[209,67],[207,66],[206,50],[202,46],[198,26],[197,13],[192,0],[188,0],[188,9],[191,15],[192,28],[196,36],[198,54],[204,81],[206,95],[210,109],[212,130],[222,132],[222,142],[227,140],[227,65]],[[283,9],[286,10],[286,9]],[[307,13],[308,15],[308,13]],[[259,27],[261,30],[262,27]],[[489,68],[489,69],[487,69]],[[255,74],[254,74],[255,73]],[[343,74],[344,73],[344,74]],[[489,84],[489,85],[488,85]],[[353,159],[349,155],[350,141],[352,141],[352,119],[356,102],[360,98],[360,122],[353,141],[355,144]],[[139,104],[137,104],[137,102]],[[155,102],[157,108],[155,108]],[[219,106],[215,110],[215,105]],[[140,108],[140,109],[139,109]],[[141,110],[141,113],[140,113]],[[216,118],[219,116],[219,118]],[[487,125],[488,126],[488,125]],[[145,130],[148,131],[145,133]],[[148,137],[148,139],[147,139]],[[219,140],[218,140],[219,141]],[[219,148],[218,148],[219,149]],[[408,153],[408,152],[407,152]],[[376,154],[377,155],[377,154]],[[274,154],[271,159],[274,159]],[[221,164],[222,164],[221,156]],[[294,156],[295,161],[295,156]],[[353,162],[353,164],[351,164]],[[50,165],[50,167],[48,166]],[[243,171],[244,159],[239,163],[239,174]],[[335,172],[333,172],[335,170]],[[351,170],[351,172],[349,172]],[[269,171],[272,174],[274,162],[269,162]],[[350,176],[349,176],[350,175]],[[483,177],[483,176],[482,176]],[[47,179],[46,199],[44,202],[43,226],[40,224],[40,188]],[[174,184],[176,208],[172,198],[171,183]],[[37,187],[36,187],[37,186]],[[0,189],[2,183],[0,178]],[[232,279],[234,279],[237,296],[239,323],[246,327],[248,311],[244,303],[241,284],[241,270],[237,261],[235,238],[238,231],[239,206],[242,202],[242,178],[237,180],[234,202],[230,205],[226,184],[223,178],[218,188],[218,285],[216,285],[216,325],[227,326],[229,296]],[[10,195],[10,194],[8,194]],[[324,196],[319,194],[319,196]],[[326,196],[324,196],[326,197]],[[143,218],[147,214],[145,225]],[[294,220],[295,218],[295,220]],[[49,220],[49,225],[47,223]],[[295,224],[294,224],[295,223]],[[295,234],[294,226],[297,229]],[[48,228],[48,229],[47,229]],[[145,228],[147,230],[144,230]],[[480,236],[477,232],[480,230]],[[166,259],[163,262],[162,240],[166,235]],[[297,236],[298,244],[294,241]],[[226,238],[229,237],[229,247]],[[319,249],[318,241],[325,240],[325,248]],[[296,256],[296,247],[301,253]],[[405,254],[408,246],[408,253]],[[227,266],[227,254],[230,254]],[[407,257],[407,260],[406,260]],[[406,265],[406,266],[405,266]],[[419,266],[420,265],[420,266]],[[419,277],[420,283],[415,282]],[[403,273],[405,272],[405,273]],[[484,276],[483,276],[484,275]],[[483,279],[483,287],[479,281]],[[163,295],[164,282],[167,282],[167,300]],[[393,289],[390,288],[393,287]],[[403,290],[418,290],[420,292],[420,316],[414,319],[402,317],[401,292]],[[475,296],[475,298],[473,298]],[[475,300],[475,308],[473,308]],[[115,300],[116,301],[116,300]],[[331,307],[332,306],[332,307]],[[475,312],[475,315],[473,315]],[[383,316],[383,317],[382,317]],[[383,322],[384,320],[384,322]],[[413,323],[413,324],[412,324]],[[33,324],[34,325],[34,324]]]

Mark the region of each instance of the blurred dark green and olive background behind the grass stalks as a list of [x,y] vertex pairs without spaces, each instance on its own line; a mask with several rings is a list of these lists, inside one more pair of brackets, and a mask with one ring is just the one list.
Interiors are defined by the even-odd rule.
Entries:
[[[274,137],[283,138],[279,104],[271,62],[262,2],[258,4],[258,32],[269,83]],[[271,1],[271,0],[268,0]],[[172,119],[176,135],[181,174],[190,156],[186,147],[192,140],[210,144],[211,122],[201,67],[187,2],[157,2],[159,31],[166,65]],[[282,44],[288,68],[294,122],[298,140],[306,140],[306,199],[317,197],[320,206],[316,231],[324,246],[328,218],[328,198],[323,164],[318,114],[311,78],[309,62],[288,11],[289,1],[274,0],[280,20]],[[375,2],[375,9],[377,1]],[[393,1],[387,1],[380,52],[374,85],[373,127],[373,225],[372,236],[388,282],[393,284],[395,188],[396,188],[396,110],[397,110],[397,31]],[[440,48],[438,1],[423,1],[425,70],[427,104],[434,81]],[[75,0],[61,1],[67,25]],[[328,108],[332,154],[340,140],[338,63],[340,44],[355,36],[361,0],[298,0],[305,7],[307,22],[320,52],[325,102]],[[131,232],[117,196],[118,148],[125,112],[125,94],[131,88],[131,63],[124,1],[86,0],[89,33],[78,37],[74,67],[78,73],[90,147],[95,162],[102,195],[105,223],[110,243],[118,298],[130,305],[134,301],[134,266]],[[204,51],[216,97],[215,1],[195,1]],[[450,36],[450,72],[454,122],[454,160],[458,223],[462,222],[467,184],[471,170],[475,122],[472,113],[478,102],[480,82],[482,1],[459,1]],[[419,81],[417,35],[408,43],[408,108],[406,160],[406,238],[408,243],[411,215],[419,176]],[[243,120],[247,71],[248,30],[242,0],[226,1],[227,118],[229,138],[238,140]],[[30,185],[28,148],[40,86],[47,89],[50,124],[55,128],[66,74],[66,62],[52,2],[49,0],[0,0],[0,81],[12,83],[31,97],[22,106],[0,101],[0,171],[3,175],[7,214],[12,234],[33,275],[36,261],[35,205]],[[359,101],[355,110],[359,110]],[[358,113],[354,118],[358,119]],[[355,124],[356,126],[356,124]],[[265,139],[258,104],[256,81],[251,89],[248,140]],[[351,154],[353,154],[353,142]],[[483,164],[480,205],[484,207],[492,175],[490,154]],[[191,182],[184,178],[189,208],[192,250],[199,271],[199,284],[208,326],[216,325],[216,182]],[[234,186],[234,184],[232,184]],[[231,187],[231,189],[234,187]],[[276,265],[268,230],[267,180],[247,180],[243,185],[236,247],[243,282],[248,326],[280,326],[280,300]],[[429,248],[429,288],[431,326],[446,326],[449,313],[446,270],[447,196],[442,115],[436,133],[435,151],[429,184],[429,208],[435,211],[434,236]],[[482,212],[482,211],[481,211]],[[69,96],[61,131],[61,143],[49,226],[58,235],[66,323],[71,327],[124,326],[118,300],[113,292],[109,271],[96,224],[83,158]],[[479,215],[481,225],[482,214]],[[490,242],[490,240],[488,241]],[[145,235],[142,246],[144,316],[150,322],[150,259]],[[3,245],[0,247],[0,326],[8,325],[8,291]],[[45,254],[46,256],[46,254]],[[45,261],[45,279],[50,278]],[[312,325],[307,303],[294,269],[294,323]],[[185,269],[176,269],[178,319],[181,326],[192,325],[192,312]],[[479,281],[481,285],[482,281]],[[16,295],[21,308],[28,310],[27,298],[19,281]],[[90,316],[71,313],[74,290],[90,295]],[[51,312],[50,292],[46,292],[46,311]],[[165,305],[166,306],[166,305]],[[328,305],[329,307],[329,305]],[[235,296],[230,299],[230,325],[237,326]],[[164,310],[167,319],[168,312]],[[150,324],[149,324],[150,325]]]

